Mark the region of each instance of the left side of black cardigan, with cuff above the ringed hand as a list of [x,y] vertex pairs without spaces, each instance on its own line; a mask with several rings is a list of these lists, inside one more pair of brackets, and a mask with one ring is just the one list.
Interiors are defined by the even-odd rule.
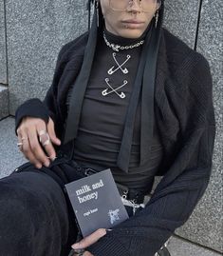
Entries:
[[[57,136],[62,137],[67,114],[65,106],[66,92],[73,84],[82,65],[87,37],[88,33],[85,32],[62,47],[57,58],[53,81],[46,92],[44,101],[30,99],[21,105],[15,114],[15,130],[25,116],[42,118],[46,123],[48,118],[51,117],[54,121]],[[72,61],[70,61],[71,59]]]

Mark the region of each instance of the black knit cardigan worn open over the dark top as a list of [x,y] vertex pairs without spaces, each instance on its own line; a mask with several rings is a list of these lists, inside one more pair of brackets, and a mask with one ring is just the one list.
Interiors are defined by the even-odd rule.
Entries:
[[[57,135],[63,136],[66,94],[81,69],[87,36],[61,49],[44,104],[31,99],[25,103],[27,108],[18,108],[16,127],[26,115],[46,122],[49,115]],[[188,220],[209,183],[215,134],[210,68],[201,54],[164,29],[158,52],[155,118],[164,148],[158,173],[163,178],[144,209],[88,247],[95,256],[154,256]]]

